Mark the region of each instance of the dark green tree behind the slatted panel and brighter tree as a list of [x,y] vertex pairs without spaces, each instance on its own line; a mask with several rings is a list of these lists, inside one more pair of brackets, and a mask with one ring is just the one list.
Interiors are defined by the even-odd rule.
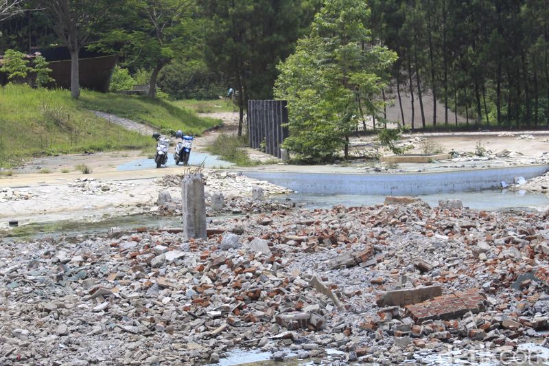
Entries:
[[318,0],[203,0],[205,56],[211,69],[224,74],[226,89],[236,91],[242,135],[249,99],[272,98],[277,64],[293,51],[307,29]]

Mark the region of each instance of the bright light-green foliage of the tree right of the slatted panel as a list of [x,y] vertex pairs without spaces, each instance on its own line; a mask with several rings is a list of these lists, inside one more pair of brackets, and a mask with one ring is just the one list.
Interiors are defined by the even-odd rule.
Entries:
[[331,159],[364,115],[377,115],[374,100],[397,54],[369,46],[364,0],[330,0],[315,16],[311,34],[279,65],[277,98],[288,100],[290,137],[284,147],[310,161]]

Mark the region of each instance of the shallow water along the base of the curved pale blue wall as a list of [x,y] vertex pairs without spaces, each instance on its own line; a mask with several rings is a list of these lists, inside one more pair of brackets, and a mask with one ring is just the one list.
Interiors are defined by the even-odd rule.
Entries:
[[[334,205],[356,206],[356,205],[379,205],[385,200],[385,196],[362,195],[362,194],[309,194],[293,193],[288,197],[290,200],[303,203],[305,208],[329,208]],[[471,209],[506,210],[524,209],[526,211],[544,211],[549,208],[549,197],[544,194],[534,194],[511,191],[482,191],[482,192],[460,192],[447,194],[426,194],[417,196],[427,202],[431,207],[439,205],[439,200],[460,199],[463,205]]]

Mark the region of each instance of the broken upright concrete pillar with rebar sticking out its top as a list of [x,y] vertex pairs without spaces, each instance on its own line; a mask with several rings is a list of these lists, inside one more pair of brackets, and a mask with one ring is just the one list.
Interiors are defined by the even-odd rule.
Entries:
[[181,189],[183,201],[183,237],[206,239],[206,200],[204,179],[201,173],[193,173],[183,178]]

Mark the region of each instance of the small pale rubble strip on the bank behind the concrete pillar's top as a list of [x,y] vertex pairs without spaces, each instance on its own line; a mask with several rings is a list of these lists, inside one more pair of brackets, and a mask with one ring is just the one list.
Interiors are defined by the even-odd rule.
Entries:
[[[274,185],[267,181],[258,181],[237,172],[220,172],[218,170],[204,171],[202,176],[206,181],[206,192],[222,192],[225,196],[251,196],[253,187],[261,187],[266,196],[289,194],[292,190]],[[164,187],[180,187],[181,175],[163,176],[157,183]]]

